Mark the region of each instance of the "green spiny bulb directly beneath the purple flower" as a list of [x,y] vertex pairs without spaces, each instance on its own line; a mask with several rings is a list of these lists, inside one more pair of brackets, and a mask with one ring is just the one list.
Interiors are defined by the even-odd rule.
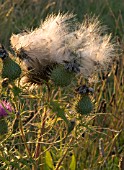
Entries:
[[8,124],[4,118],[0,119],[0,135],[8,133]]

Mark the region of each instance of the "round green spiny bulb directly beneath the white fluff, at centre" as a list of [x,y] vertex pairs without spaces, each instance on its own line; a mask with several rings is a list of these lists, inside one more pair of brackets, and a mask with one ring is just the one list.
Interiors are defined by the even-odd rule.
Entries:
[[68,86],[71,83],[74,75],[74,72],[70,72],[66,70],[64,66],[60,65],[52,70],[51,79],[53,80],[55,85],[64,87]]

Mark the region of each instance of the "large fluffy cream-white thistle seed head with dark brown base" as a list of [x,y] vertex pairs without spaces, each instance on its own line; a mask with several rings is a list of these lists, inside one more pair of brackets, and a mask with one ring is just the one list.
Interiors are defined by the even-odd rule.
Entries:
[[11,45],[30,70],[29,79],[46,79],[48,68],[65,61],[76,61],[83,76],[89,77],[105,70],[113,59],[115,45],[105,31],[98,18],[79,24],[73,14],[59,13],[48,16],[34,31],[12,35]]

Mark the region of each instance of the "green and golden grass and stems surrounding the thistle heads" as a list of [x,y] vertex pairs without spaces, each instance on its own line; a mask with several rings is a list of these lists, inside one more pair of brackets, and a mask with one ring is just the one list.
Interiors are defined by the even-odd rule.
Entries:
[[[0,0],[0,41],[10,49],[12,33],[34,29],[41,19],[58,11],[74,12],[79,21],[87,13],[99,15],[109,28],[108,32],[112,32],[113,38],[120,43],[122,53],[117,54],[118,62],[113,63],[109,75],[101,76],[100,82],[92,84],[95,92],[90,97],[94,111],[87,116],[79,115],[74,109],[78,96],[73,84],[58,88],[49,82],[49,88],[44,84],[32,91],[22,88],[18,80],[18,88],[0,85],[0,99],[9,100],[14,108],[7,117],[8,133],[0,136],[0,169],[122,170],[123,0]],[[73,119],[76,124],[68,134]]]

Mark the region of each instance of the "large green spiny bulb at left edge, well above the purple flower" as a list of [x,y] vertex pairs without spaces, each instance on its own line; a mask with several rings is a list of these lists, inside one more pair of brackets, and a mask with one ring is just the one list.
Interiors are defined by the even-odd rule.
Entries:
[[15,61],[10,57],[3,59],[2,78],[8,78],[9,81],[14,81],[20,74],[21,68]]

